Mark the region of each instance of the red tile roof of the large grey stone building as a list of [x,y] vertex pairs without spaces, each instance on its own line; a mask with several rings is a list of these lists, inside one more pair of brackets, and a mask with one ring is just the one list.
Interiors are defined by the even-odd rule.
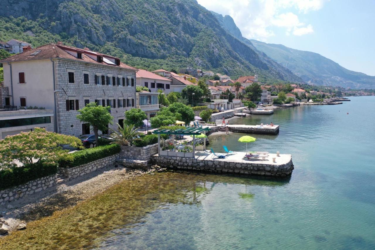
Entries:
[[[78,59],[75,56],[72,56],[66,50],[70,51],[76,51],[82,53],[82,59]],[[39,53],[36,55],[31,55],[34,52],[40,50]],[[126,68],[126,69],[132,69],[136,70],[136,68],[133,68],[129,65],[126,65],[125,63],[120,62],[120,66],[117,65],[110,65],[105,62],[97,62],[96,60],[92,59],[91,57],[87,56],[86,54],[92,54],[92,55],[97,55],[97,56],[104,56],[108,57],[111,59],[118,59],[117,57],[113,56],[108,56],[105,54],[93,52],[93,51],[88,51],[88,50],[83,50],[80,48],[75,48],[71,46],[66,46],[66,45],[60,45],[60,44],[46,44],[42,45],[37,48],[33,48],[31,50],[25,51],[20,54],[16,54],[14,56],[7,57],[3,60],[0,60],[0,62],[19,62],[19,61],[30,61],[30,60],[40,60],[40,59],[50,59],[50,58],[62,58],[62,59],[70,59],[70,60],[75,60],[78,62],[86,62],[86,63],[95,63],[95,64],[101,64],[101,65],[107,65],[107,66],[113,66],[113,67],[121,67],[121,68]]]

